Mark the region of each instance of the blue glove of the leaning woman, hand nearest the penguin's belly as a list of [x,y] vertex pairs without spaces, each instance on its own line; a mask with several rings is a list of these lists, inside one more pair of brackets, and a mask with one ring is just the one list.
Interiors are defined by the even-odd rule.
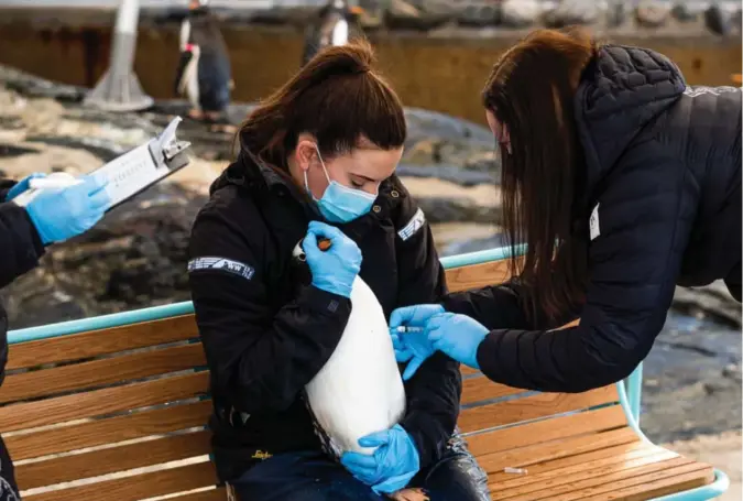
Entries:
[[[408,362],[403,372],[403,379],[407,381],[415,374],[420,364],[434,355],[436,349],[428,341],[428,320],[435,315],[444,313],[444,306],[438,304],[419,304],[405,306],[392,312],[390,316],[390,336],[398,362]],[[422,329],[415,333],[400,333],[401,326]]]

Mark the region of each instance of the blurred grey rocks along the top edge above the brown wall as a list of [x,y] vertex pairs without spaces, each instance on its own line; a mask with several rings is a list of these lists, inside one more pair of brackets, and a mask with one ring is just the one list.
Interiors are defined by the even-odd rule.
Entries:
[[[7,20],[33,19],[54,23],[58,18],[69,22],[110,22],[110,10],[116,2],[80,0],[45,0],[45,15],[30,12],[28,0],[0,0],[0,8],[9,10]],[[142,19],[161,22],[179,19],[186,12],[186,1],[141,1]],[[214,12],[225,22],[248,24],[289,24],[304,26],[308,17],[316,15],[326,0],[291,2],[250,2],[242,0],[212,0]],[[350,0],[362,8],[358,28],[389,31],[440,32],[449,29],[468,31],[528,29],[535,26],[561,28],[569,24],[590,25],[611,31],[665,31],[676,33],[708,33],[726,35],[740,32],[741,4],[732,0],[704,2],[697,0]],[[12,18],[11,18],[12,17]],[[77,19],[75,19],[77,18]],[[1,21],[1,19],[0,19]]]

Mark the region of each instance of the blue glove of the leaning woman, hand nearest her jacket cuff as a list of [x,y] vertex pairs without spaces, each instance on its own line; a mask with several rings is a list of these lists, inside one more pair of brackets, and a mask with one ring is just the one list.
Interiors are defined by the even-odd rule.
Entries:
[[442,313],[427,325],[428,341],[458,362],[480,369],[478,348],[488,336],[488,328],[467,315]]

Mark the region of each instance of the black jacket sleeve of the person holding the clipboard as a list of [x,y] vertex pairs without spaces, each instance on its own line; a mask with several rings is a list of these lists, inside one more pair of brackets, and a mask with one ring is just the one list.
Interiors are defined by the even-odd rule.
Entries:
[[[0,200],[15,182],[0,181]],[[0,203],[0,287],[39,264],[44,254],[44,244],[36,228],[23,207],[12,203]],[[6,377],[8,361],[8,315],[0,304],[0,384]]]

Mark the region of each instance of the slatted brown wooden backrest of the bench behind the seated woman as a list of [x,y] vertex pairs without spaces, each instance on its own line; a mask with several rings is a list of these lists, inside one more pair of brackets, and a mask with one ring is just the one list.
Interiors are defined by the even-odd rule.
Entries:
[[[447,272],[451,291],[506,277],[504,261]],[[8,369],[0,429],[24,499],[225,499],[207,456],[208,371],[193,315],[12,345]],[[463,377],[459,426],[488,470],[502,467],[489,462],[498,450],[625,425],[614,386],[536,394]]]

